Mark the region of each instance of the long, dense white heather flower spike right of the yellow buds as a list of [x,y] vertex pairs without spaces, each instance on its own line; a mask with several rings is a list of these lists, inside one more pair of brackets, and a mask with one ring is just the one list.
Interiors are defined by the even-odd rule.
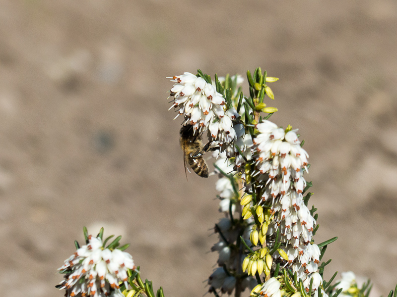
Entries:
[[274,222],[269,225],[267,235],[280,229],[292,271],[297,272],[306,285],[310,283],[310,275],[318,270],[320,261],[319,247],[310,244],[316,221],[302,195],[306,187],[302,171],[307,171],[308,154],[300,146],[297,130],[286,132],[268,120],[257,124],[256,128],[260,134],[253,140],[256,159],[253,176],[259,174],[256,179],[264,188],[262,200],[271,201]]

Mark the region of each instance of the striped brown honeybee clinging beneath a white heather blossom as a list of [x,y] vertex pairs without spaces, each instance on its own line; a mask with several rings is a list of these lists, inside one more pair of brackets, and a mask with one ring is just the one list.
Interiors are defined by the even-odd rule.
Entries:
[[188,178],[186,161],[188,161],[188,164],[197,175],[208,177],[208,166],[202,155],[209,150],[210,143],[203,146],[199,133],[195,133],[193,125],[190,124],[182,126],[179,134],[181,135],[180,144],[183,150],[183,164],[186,178]]

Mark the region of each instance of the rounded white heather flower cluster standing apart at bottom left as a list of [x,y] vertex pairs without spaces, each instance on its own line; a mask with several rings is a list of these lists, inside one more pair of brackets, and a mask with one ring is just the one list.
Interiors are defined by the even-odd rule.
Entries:
[[[105,297],[112,291],[121,296],[119,283],[127,282],[127,269],[135,269],[132,256],[120,249],[102,248],[100,238],[88,237],[88,244],[76,250],[58,270],[66,271],[60,289],[66,289],[66,297]],[[118,293],[120,293],[118,295]]]

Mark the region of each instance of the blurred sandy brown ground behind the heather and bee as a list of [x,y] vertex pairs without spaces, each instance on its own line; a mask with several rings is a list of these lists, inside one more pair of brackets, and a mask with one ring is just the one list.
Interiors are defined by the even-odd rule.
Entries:
[[397,283],[397,2],[0,0],[0,296],[54,297],[82,226],[202,296],[221,215],[186,182],[165,77],[261,66],[299,128],[333,271]]

